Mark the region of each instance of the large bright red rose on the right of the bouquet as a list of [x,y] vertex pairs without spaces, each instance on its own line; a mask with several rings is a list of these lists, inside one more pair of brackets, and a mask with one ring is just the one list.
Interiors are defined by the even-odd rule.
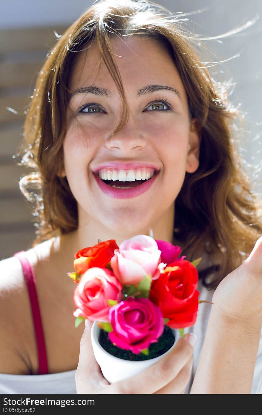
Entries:
[[149,300],[156,304],[167,325],[182,329],[195,324],[198,309],[198,272],[191,262],[178,259],[152,282]]

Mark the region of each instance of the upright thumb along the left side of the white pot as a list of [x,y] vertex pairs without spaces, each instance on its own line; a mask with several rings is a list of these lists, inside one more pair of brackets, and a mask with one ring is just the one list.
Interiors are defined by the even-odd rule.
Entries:
[[75,374],[77,393],[94,393],[97,388],[109,385],[101,374],[99,364],[96,362],[92,343],[91,327],[93,322],[85,320],[86,326],[80,340],[80,353]]

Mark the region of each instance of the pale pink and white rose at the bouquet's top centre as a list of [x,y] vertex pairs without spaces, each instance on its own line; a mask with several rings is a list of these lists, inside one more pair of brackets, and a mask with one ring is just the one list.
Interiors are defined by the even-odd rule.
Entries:
[[136,235],[123,241],[114,252],[110,265],[116,278],[123,285],[136,285],[147,274],[150,274],[153,280],[160,276],[158,265],[161,262],[161,251],[153,238]]

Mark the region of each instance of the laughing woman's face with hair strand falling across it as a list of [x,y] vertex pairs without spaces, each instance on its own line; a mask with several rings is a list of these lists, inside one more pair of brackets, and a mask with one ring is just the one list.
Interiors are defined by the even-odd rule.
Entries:
[[[199,138],[191,126],[194,120],[191,123],[189,119],[185,88],[168,52],[146,38],[125,38],[125,43],[114,38],[111,45],[130,107],[127,124],[110,138],[120,120],[122,101],[103,62],[99,70],[99,51],[92,44],[79,52],[72,70],[70,89],[75,93],[67,111],[62,175],[67,176],[77,200],[79,226],[92,219],[111,232],[121,234],[125,229],[136,234],[163,219],[173,208],[185,172],[198,168]],[[146,88],[148,85],[169,89]],[[90,86],[103,88],[102,93],[85,90]],[[112,162],[124,166],[112,166]],[[132,162],[142,167],[127,165]],[[123,168],[125,164],[127,168]],[[120,178],[118,186],[139,184],[136,189],[123,190],[102,182],[97,171],[101,165],[112,175],[113,171],[118,175],[125,170],[131,179],[139,178],[150,166],[155,170],[151,186],[149,182],[141,185],[143,182],[137,179],[122,182],[122,173],[112,176]],[[113,181],[107,183],[115,186]]]

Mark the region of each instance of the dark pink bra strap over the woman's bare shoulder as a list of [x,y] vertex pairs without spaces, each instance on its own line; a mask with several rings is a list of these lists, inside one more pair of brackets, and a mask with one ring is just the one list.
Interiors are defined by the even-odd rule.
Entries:
[[46,344],[43,334],[43,325],[41,320],[41,313],[36,292],[36,278],[34,270],[25,256],[25,251],[20,251],[14,254],[20,260],[24,272],[24,279],[26,281],[27,291],[31,304],[32,317],[34,322],[36,346],[38,352],[38,374],[48,374],[48,364],[46,356]]

